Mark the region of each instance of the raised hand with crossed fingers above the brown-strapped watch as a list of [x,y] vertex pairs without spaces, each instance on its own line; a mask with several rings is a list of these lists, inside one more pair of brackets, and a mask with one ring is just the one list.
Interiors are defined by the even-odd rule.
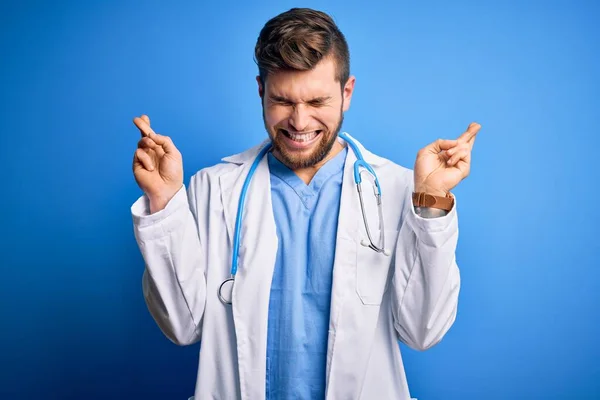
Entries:
[[419,150],[415,161],[415,191],[446,196],[469,175],[471,150],[481,125],[473,122],[458,139],[438,139]]

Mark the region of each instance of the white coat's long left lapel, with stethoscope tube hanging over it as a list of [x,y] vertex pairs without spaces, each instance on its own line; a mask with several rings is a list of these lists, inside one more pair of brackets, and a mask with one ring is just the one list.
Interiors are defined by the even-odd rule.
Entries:
[[[263,143],[264,145],[264,143]],[[250,166],[262,146],[224,159],[240,163],[220,177],[221,200],[233,253],[235,219]],[[277,234],[271,203],[267,157],[263,157],[248,186],[240,233],[238,270],[233,286],[233,312],[242,399],[265,396],[269,296]],[[231,263],[232,254],[224,255]]]

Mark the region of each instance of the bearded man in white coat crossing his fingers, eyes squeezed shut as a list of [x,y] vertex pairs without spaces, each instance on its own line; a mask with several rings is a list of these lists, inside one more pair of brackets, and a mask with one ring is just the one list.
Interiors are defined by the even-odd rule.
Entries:
[[[264,157],[267,142],[198,171],[186,190],[171,139],[134,119],[144,195],[132,213],[150,313],[173,342],[202,341],[196,399],[408,399],[397,341],[430,348],[456,316],[450,191],[469,173],[479,125],[424,147],[413,173],[340,134],[355,78],[328,15],[278,15],[255,57]],[[360,157],[381,210],[365,174],[361,208]]]

